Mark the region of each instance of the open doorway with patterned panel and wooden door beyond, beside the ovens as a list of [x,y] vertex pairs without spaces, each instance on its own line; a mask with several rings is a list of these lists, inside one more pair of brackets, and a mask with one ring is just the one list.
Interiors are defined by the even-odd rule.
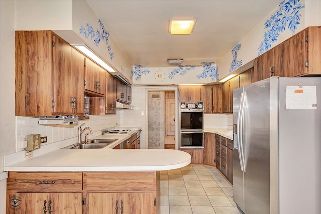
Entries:
[[148,91],[148,148],[176,147],[175,91]]

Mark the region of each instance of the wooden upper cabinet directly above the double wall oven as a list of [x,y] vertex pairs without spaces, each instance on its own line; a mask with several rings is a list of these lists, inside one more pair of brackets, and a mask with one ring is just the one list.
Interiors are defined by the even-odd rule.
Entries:
[[179,86],[180,102],[204,102],[205,86]]

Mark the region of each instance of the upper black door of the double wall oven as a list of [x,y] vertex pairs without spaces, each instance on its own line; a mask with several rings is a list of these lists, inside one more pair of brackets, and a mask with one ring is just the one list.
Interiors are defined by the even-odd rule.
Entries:
[[202,111],[181,112],[181,129],[203,129]]

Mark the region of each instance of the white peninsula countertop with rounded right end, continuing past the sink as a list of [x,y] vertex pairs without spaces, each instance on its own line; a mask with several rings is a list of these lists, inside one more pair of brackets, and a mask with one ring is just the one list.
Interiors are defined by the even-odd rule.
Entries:
[[128,135],[100,135],[119,140],[102,149],[57,149],[8,166],[4,171],[160,171],[184,167],[191,155],[174,149],[112,149]]

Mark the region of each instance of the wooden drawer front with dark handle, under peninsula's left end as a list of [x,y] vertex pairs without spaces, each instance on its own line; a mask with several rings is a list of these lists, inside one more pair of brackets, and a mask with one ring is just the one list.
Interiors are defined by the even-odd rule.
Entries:
[[82,172],[17,172],[17,192],[81,192]]

